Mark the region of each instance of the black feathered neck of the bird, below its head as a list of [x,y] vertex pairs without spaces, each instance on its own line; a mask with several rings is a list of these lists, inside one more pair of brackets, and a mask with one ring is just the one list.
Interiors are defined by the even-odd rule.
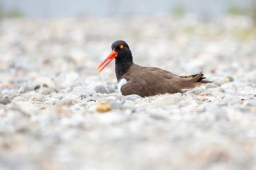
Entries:
[[116,58],[116,78],[118,79],[118,82],[122,75],[124,75],[133,64],[134,62],[131,54],[129,54],[129,56],[119,57],[119,59],[118,57]]

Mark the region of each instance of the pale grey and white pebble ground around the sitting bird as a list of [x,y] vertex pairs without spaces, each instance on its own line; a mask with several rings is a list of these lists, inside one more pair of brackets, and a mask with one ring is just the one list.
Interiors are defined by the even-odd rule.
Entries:
[[[184,94],[120,96],[111,43],[139,65],[201,70]],[[0,169],[256,169],[248,17],[0,21]]]

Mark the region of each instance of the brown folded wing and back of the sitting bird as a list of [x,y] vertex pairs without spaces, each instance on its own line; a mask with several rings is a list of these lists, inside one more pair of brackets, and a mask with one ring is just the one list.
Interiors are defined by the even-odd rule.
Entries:
[[202,73],[196,76],[178,76],[156,67],[141,67],[132,65],[122,76],[128,83],[122,85],[123,95],[138,94],[139,96],[154,96],[156,94],[182,92],[183,88],[194,87]]

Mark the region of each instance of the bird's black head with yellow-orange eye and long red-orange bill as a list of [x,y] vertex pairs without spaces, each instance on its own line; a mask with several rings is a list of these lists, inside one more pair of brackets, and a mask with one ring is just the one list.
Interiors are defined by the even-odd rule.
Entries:
[[118,61],[122,62],[131,62],[132,63],[132,56],[131,56],[131,50],[129,49],[129,45],[122,40],[118,40],[112,43],[111,45],[112,52],[107,56],[107,59],[105,59],[97,68],[98,72],[101,72],[104,67],[109,65],[109,63],[113,59],[117,59]]

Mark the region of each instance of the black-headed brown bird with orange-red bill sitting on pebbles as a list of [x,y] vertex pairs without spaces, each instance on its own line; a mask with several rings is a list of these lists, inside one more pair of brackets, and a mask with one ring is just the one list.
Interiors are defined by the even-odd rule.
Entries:
[[179,76],[157,67],[136,65],[129,45],[118,40],[111,45],[111,54],[97,68],[101,72],[115,59],[115,71],[118,81],[118,92],[124,96],[137,94],[141,97],[158,94],[183,93],[197,85],[210,83],[205,80],[203,72],[190,76]]

